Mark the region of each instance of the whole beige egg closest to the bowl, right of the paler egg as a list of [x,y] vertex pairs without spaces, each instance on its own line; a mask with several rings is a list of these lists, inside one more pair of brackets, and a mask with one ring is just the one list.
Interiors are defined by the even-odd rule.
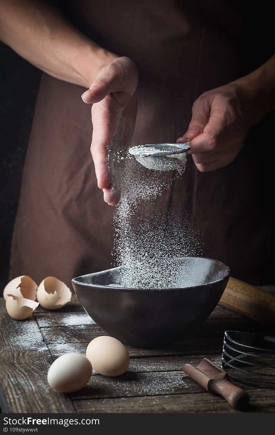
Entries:
[[100,375],[119,376],[129,367],[126,347],[113,337],[96,337],[86,349],[86,357]]

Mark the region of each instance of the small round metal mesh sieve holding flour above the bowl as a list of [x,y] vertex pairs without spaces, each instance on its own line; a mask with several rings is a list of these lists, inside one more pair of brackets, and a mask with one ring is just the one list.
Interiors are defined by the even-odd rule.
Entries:
[[176,144],[137,145],[129,149],[129,154],[135,156],[136,160],[147,169],[171,171],[184,168],[186,153],[191,149],[187,145],[190,141],[191,139],[184,139]]

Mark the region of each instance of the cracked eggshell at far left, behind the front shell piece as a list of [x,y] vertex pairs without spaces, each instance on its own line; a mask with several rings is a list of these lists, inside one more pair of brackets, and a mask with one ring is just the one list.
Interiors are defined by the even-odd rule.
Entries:
[[22,275],[12,279],[4,288],[3,297],[6,300],[7,294],[13,294],[19,298],[36,299],[37,284],[29,276]]

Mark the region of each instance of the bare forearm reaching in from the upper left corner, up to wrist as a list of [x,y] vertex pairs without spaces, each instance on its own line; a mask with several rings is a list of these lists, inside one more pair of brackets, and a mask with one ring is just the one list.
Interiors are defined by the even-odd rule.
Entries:
[[117,57],[38,0],[0,1],[0,39],[47,74],[88,88]]

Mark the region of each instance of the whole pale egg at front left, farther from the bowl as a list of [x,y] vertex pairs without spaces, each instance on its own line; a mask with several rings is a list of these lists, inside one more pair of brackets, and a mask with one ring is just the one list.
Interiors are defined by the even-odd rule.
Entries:
[[65,354],[53,361],[48,371],[48,382],[56,391],[72,393],[85,387],[92,372],[92,365],[86,356]]

